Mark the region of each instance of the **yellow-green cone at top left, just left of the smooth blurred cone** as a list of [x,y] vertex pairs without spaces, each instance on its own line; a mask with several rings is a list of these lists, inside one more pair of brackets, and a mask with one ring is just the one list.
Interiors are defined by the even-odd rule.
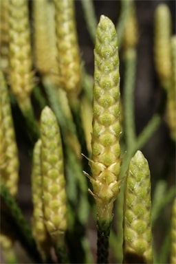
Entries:
[[33,87],[28,1],[9,0],[10,85],[21,109],[30,105]]

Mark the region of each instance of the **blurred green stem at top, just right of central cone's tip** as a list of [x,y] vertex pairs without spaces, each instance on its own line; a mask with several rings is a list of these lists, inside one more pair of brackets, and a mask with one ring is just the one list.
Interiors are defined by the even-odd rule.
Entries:
[[121,0],[121,12],[118,19],[118,24],[116,25],[116,31],[118,34],[118,48],[122,46],[123,36],[124,36],[124,27],[129,16],[130,8],[133,0]]

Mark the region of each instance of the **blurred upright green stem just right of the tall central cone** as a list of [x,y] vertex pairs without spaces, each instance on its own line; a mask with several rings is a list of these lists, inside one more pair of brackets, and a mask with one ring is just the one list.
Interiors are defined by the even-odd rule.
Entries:
[[136,70],[136,51],[129,49],[125,52],[125,76],[124,76],[124,131],[127,151],[135,146],[135,113],[134,113],[134,89]]

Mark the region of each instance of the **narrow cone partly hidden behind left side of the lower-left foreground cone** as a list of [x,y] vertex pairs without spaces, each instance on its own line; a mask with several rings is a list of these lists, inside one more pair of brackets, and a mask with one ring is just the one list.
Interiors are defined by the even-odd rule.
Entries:
[[34,146],[32,164],[32,235],[43,260],[46,260],[50,253],[50,239],[45,228],[42,197],[41,140],[38,140]]

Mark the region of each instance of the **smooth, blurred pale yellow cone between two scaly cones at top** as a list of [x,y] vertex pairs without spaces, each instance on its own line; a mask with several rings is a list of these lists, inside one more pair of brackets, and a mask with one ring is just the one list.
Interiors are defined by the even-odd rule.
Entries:
[[[47,0],[32,1],[34,62],[41,74],[56,74],[54,5]],[[47,21],[47,23],[46,23]],[[58,77],[57,77],[58,78]]]

